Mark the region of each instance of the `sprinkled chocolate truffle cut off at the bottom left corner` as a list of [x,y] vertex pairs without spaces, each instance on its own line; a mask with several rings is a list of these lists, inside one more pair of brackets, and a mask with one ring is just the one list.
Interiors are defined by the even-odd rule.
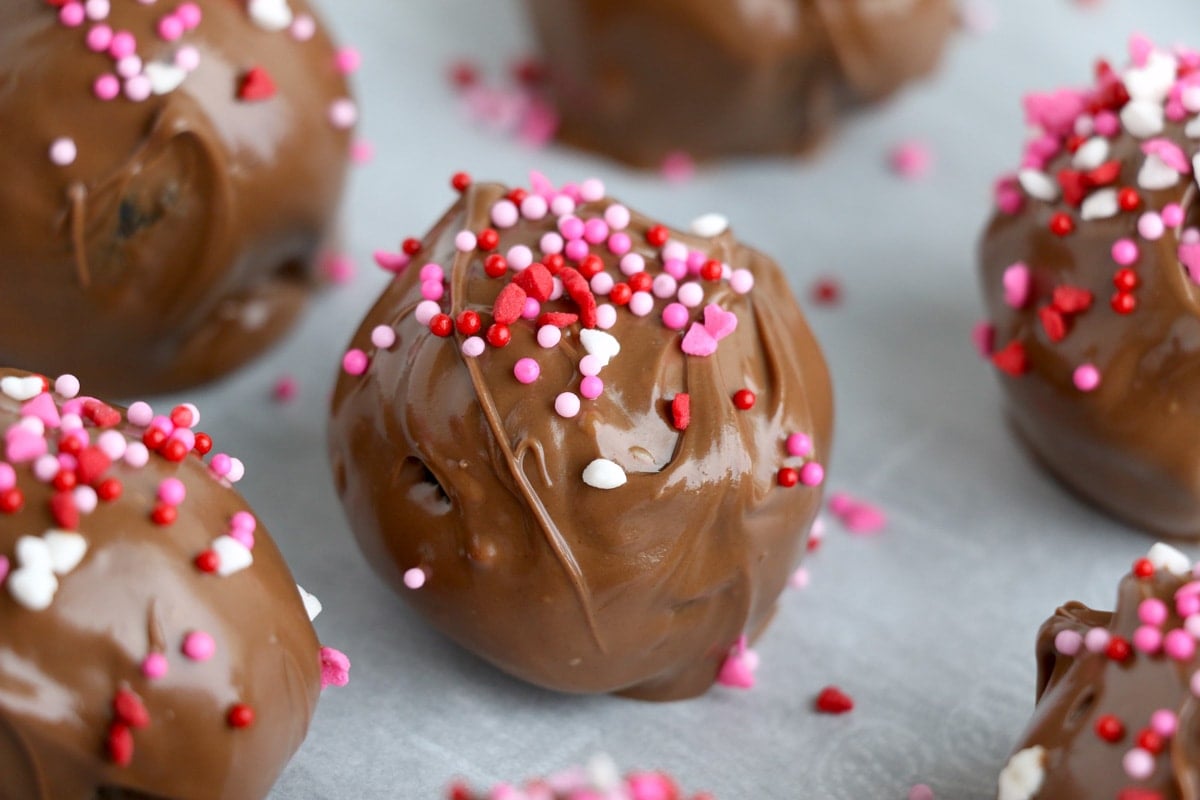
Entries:
[[194,407],[78,391],[0,369],[0,795],[264,798],[349,662]]

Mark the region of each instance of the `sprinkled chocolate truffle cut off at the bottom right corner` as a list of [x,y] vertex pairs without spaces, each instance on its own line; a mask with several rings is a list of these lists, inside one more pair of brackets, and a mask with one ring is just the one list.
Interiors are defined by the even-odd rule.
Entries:
[[1187,800],[1200,786],[1200,581],[1156,545],[1114,612],[1070,602],[1038,633],[1037,710],[1000,800]]

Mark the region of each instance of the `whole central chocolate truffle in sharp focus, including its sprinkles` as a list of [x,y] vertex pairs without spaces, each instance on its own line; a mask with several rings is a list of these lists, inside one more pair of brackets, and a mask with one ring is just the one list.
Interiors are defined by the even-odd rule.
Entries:
[[343,361],[350,525],[434,626],[518,678],[700,694],[804,552],[832,426],[816,341],[720,216],[684,233],[596,180],[455,184]]

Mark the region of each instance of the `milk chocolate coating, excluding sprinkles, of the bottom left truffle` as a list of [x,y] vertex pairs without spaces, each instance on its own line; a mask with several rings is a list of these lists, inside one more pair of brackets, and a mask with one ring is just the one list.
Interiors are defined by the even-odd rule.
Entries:
[[[0,378],[25,374],[0,371]],[[58,398],[61,404],[61,398]],[[0,426],[20,404],[0,393]],[[98,431],[91,428],[92,441]],[[118,428],[140,440],[142,429]],[[49,435],[52,452],[59,433]],[[48,608],[32,610],[12,590],[17,541],[60,527],[54,488],[14,464],[24,507],[0,512],[0,798],[5,800],[222,799],[266,796],[300,746],[320,692],[319,645],[296,584],[262,524],[253,564],[221,577],[193,559],[229,530],[247,506],[197,457],[172,463],[151,455],[143,468],[106,470],[124,485],[80,517],[88,551]],[[178,519],[150,513],[160,482],[174,476],[187,497]],[[181,652],[192,631],[212,636],[215,655]],[[143,660],[162,654],[168,672],[144,676]],[[107,751],[119,690],[136,693],[150,723],[133,730],[127,766]],[[247,728],[227,722],[234,704],[254,711]]]

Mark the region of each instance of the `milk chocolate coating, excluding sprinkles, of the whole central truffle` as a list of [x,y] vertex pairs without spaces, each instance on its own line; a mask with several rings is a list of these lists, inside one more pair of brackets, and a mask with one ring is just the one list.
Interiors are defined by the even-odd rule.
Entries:
[[[486,330],[505,279],[485,276],[478,251],[456,254],[460,230],[479,231],[504,187],[475,185],[425,237],[418,263],[445,266],[442,306],[476,309]],[[600,217],[612,200],[582,205]],[[634,213],[628,233],[652,275],[662,271]],[[553,215],[502,230],[497,251],[538,242]],[[365,375],[343,374],[332,402],[330,450],[347,516],[372,566],[436,627],[499,668],[565,692],[619,692],[667,700],[704,692],[739,634],[756,636],[804,552],[820,487],[776,483],[790,433],[811,435],[814,458],[829,453],[829,377],[779,267],[725,231],[671,236],[756,284],[739,295],[706,284],[706,303],[738,318],[715,355],[686,356],[680,333],[619,308],[611,333],[620,353],[604,368],[604,393],[564,419],[563,391],[580,391],[578,324],[562,343],[539,347],[536,327],[518,320],[508,347],[478,359],[462,336],[439,338],[416,321],[416,266],[383,293],[355,333]],[[602,247],[618,281],[617,259]],[[601,299],[602,300],[602,299]],[[578,311],[566,300],[544,311]],[[700,308],[691,317],[698,317]],[[371,344],[377,325],[394,347]],[[521,357],[541,374],[514,378]],[[751,410],[731,397],[749,387]],[[672,423],[671,402],[686,392],[691,422]],[[628,483],[598,489],[581,480],[608,458]],[[406,570],[427,576],[403,587]]]

